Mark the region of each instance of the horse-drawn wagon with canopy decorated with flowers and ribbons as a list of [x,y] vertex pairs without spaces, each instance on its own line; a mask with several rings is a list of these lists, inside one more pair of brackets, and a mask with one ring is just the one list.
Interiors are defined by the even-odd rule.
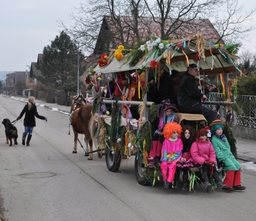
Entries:
[[[95,79],[92,112],[97,122],[94,131],[98,138],[97,148],[105,148],[109,171],[118,171],[122,159],[135,155],[135,173],[138,183],[154,184],[159,170],[147,169],[148,154],[152,148],[152,126],[149,119],[157,117],[155,104],[147,102],[149,70],[151,69],[154,73],[156,83],[159,81],[158,61],[162,58],[166,59],[170,75],[172,70],[178,70],[183,74],[189,64],[194,63],[202,68],[200,70],[202,76],[241,73],[235,63],[236,57],[232,55],[234,48],[230,50],[225,47],[222,44],[213,44],[199,34],[172,41],[162,41],[153,36],[151,41],[141,45],[138,50],[128,50],[119,46],[117,50],[111,51],[109,56],[102,55],[98,66],[91,70]],[[124,76],[127,85],[122,89],[116,84],[120,90],[120,96],[100,97],[97,88],[100,86],[102,75],[111,75],[116,83],[118,83],[118,77],[122,79],[120,75]],[[86,80],[88,81],[88,78]],[[134,86],[131,86],[132,83]],[[230,105],[228,102],[208,102],[208,104]],[[131,114],[133,106],[136,106],[136,112],[138,112],[137,119]],[[195,129],[199,127],[199,122],[202,120],[207,125],[203,115],[177,113],[177,117],[179,124],[189,123]]]

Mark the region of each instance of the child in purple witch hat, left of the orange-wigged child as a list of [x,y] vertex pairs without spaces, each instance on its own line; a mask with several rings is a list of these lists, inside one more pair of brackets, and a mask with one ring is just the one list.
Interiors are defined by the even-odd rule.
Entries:
[[[160,111],[159,111],[160,110]],[[158,108],[158,117],[159,124],[158,129],[155,131],[153,135],[153,148],[149,151],[149,164],[147,167],[154,166],[154,163],[160,160],[162,146],[163,146],[163,127],[167,122],[176,122],[177,117],[174,112],[178,112],[178,110],[171,105],[169,99],[163,100],[162,105]]]

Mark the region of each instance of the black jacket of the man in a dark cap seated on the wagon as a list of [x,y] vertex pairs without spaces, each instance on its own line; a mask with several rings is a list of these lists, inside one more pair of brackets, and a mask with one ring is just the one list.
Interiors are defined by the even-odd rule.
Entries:
[[[205,94],[209,93],[208,89],[205,89]],[[198,88],[194,76],[189,73],[185,73],[181,79],[177,102],[179,104],[179,111],[184,113],[202,113],[203,106],[201,104],[201,98],[203,93]]]

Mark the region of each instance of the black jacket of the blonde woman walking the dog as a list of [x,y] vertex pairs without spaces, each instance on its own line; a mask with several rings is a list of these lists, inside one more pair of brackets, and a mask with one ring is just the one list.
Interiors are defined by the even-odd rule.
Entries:
[[23,115],[25,113],[24,126],[34,127],[35,126],[35,117],[37,117],[39,119],[46,119],[46,118],[43,116],[40,116],[37,113],[37,106],[35,106],[35,104],[33,104],[33,103],[30,103],[30,104],[32,104],[30,111],[28,111],[28,104],[26,104],[17,119],[21,119],[21,117],[23,117]]

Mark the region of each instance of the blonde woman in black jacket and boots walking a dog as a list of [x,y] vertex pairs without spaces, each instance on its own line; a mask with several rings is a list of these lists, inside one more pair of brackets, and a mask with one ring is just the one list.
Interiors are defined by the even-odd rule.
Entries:
[[29,142],[32,137],[33,128],[35,127],[35,117],[37,117],[39,119],[44,119],[46,122],[47,122],[47,118],[40,116],[37,113],[37,106],[35,106],[35,97],[28,97],[28,104],[26,104],[24,106],[24,108],[21,111],[17,120],[21,119],[21,117],[23,117],[24,113],[25,113],[25,117],[24,117],[25,131],[22,136],[22,145],[25,145],[26,136],[28,134],[28,139],[27,139],[26,144],[27,144],[27,146],[30,146]]

